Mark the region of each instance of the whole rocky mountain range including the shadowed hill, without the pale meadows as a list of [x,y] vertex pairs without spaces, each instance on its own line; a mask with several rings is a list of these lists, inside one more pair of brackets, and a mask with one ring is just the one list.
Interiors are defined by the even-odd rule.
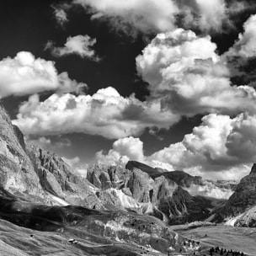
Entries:
[[[0,128],[4,225],[9,221],[40,232],[72,231],[86,243],[115,248],[113,255],[137,255],[134,248],[149,252],[149,246],[152,255],[198,250],[197,243],[173,232],[174,224],[211,221],[256,227],[256,165],[239,184],[136,161],[125,167],[95,164],[83,178],[55,152],[26,145],[1,105]],[[83,255],[92,255],[91,250],[83,247]]]

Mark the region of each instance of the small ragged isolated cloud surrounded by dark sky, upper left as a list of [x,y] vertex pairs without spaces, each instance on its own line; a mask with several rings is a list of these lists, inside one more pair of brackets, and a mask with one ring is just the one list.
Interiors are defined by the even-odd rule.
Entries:
[[94,61],[99,61],[99,58],[92,48],[95,43],[96,39],[92,39],[88,35],[76,35],[73,37],[69,36],[64,47],[56,47],[52,41],[48,41],[45,45],[45,49],[49,49],[51,54],[56,57],[75,54]]

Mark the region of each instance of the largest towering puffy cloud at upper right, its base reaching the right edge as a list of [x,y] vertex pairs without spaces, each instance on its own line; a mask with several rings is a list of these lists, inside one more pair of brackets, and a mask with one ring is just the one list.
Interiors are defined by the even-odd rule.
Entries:
[[151,98],[180,115],[255,113],[255,90],[232,86],[210,36],[184,29],[159,34],[137,56],[136,66]]

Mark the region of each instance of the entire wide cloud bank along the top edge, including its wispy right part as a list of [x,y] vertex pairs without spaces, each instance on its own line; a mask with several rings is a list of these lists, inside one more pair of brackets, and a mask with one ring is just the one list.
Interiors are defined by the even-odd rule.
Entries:
[[228,20],[225,0],[74,0],[72,4],[82,5],[93,14],[92,19],[107,19],[115,29],[127,31],[130,26],[130,32],[167,32],[177,28],[177,24],[218,31]]

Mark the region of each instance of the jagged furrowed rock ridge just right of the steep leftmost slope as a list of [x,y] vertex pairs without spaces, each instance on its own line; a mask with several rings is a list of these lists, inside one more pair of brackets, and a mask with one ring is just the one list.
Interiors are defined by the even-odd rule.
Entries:
[[46,191],[69,204],[102,207],[88,180],[75,173],[56,153],[35,146],[28,147],[28,152]]

